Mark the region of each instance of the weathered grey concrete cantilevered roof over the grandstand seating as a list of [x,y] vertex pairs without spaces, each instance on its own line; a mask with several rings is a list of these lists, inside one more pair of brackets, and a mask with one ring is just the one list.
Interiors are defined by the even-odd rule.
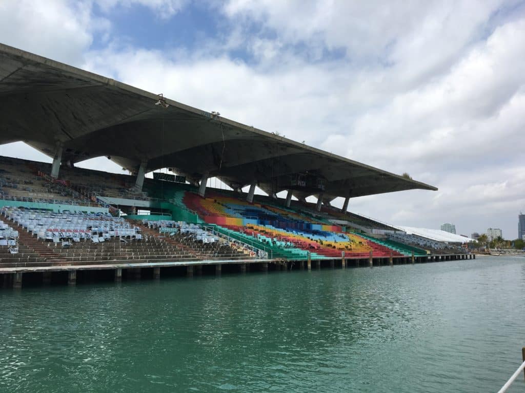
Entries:
[[[325,198],[435,187],[300,144],[70,65],[0,43],[0,144],[25,141],[62,162],[109,156],[136,171],[169,167],[267,192],[290,175],[324,179]],[[311,193],[311,192],[310,192]],[[307,196],[308,192],[294,192]]]

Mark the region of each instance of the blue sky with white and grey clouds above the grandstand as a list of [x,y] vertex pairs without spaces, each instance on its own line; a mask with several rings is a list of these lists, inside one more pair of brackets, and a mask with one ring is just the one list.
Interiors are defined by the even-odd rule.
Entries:
[[351,211],[517,237],[523,1],[0,0],[0,42],[439,188]]

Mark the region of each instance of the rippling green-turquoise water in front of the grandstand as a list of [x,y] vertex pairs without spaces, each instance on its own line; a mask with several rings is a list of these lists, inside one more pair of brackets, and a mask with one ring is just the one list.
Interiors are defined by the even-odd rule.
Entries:
[[4,289],[0,304],[1,392],[497,391],[525,345],[525,258]]

